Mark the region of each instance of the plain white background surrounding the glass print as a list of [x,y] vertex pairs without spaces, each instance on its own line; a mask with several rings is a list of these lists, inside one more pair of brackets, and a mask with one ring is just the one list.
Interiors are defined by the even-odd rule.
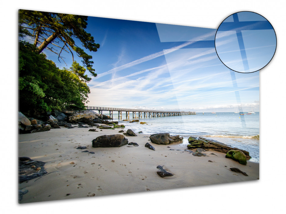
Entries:
[[[3,1],[1,2],[1,211],[2,213],[258,213],[285,203],[285,5],[283,1]],[[260,71],[260,180],[53,202],[18,204],[18,9],[71,13],[195,27],[218,28],[232,13],[264,16],[277,50]],[[24,196],[25,197],[25,196]]]

